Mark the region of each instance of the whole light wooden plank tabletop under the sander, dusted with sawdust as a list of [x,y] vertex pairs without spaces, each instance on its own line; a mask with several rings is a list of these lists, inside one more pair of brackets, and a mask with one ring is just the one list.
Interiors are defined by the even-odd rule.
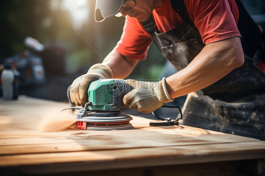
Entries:
[[265,158],[265,141],[184,125],[150,127],[153,120],[137,116],[127,130],[74,129],[75,116],[59,114],[66,107],[27,96],[0,99],[0,166],[48,173],[51,164],[59,172]]

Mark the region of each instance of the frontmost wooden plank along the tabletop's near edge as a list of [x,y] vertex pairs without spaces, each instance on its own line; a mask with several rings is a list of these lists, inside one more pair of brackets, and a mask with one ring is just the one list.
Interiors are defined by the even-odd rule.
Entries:
[[[213,150],[217,149],[218,150]],[[194,150],[195,149],[195,150]],[[102,169],[108,169],[109,162],[132,161],[133,165],[144,159],[155,164],[185,164],[197,162],[230,161],[239,159],[264,158],[264,142],[243,142],[213,145],[147,147],[136,149],[58,152],[44,154],[19,154],[0,156],[0,166],[15,166],[60,162],[102,162]],[[181,160],[180,160],[181,159]],[[170,162],[169,162],[170,161]],[[138,165],[137,165],[138,166]],[[116,166],[122,167],[122,166]]]

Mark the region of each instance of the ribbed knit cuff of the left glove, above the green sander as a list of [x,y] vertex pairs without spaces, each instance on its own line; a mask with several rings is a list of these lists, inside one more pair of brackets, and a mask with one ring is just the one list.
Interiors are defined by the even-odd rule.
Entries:
[[88,73],[96,73],[104,76],[106,79],[113,78],[112,71],[107,65],[95,64],[89,68]]

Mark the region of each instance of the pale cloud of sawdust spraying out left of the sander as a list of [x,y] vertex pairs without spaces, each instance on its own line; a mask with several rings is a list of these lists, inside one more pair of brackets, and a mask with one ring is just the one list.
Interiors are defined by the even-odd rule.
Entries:
[[75,115],[69,110],[59,112],[56,107],[49,108],[49,111],[42,115],[43,120],[39,129],[44,132],[57,132],[75,129]]

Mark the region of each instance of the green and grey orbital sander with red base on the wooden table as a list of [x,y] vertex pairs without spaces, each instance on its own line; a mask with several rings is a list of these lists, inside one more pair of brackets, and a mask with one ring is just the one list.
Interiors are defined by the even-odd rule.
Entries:
[[[87,90],[88,103],[82,108],[76,108],[70,97],[70,88],[67,97],[71,107],[79,109],[76,114],[75,126],[83,130],[124,130],[132,127],[132,117],[121,114],[120,108],[125,107],[123,96],[133,90],[133,87],[122,79],[96,80],[89,84]],[[63,111],[62,110],[62,111]]]

